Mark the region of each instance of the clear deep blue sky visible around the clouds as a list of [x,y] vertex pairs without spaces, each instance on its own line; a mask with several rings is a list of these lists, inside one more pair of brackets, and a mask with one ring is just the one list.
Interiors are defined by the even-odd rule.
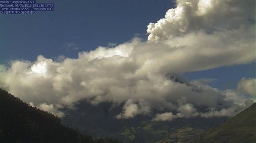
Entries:
[[[39,54],[77,57],[108,43],[124,43],[135,35],[146,40],[147,25],[174,7],[171,0],[37,0],[54,3],[54,11],[0,15],[0,63]],[[72,44],[71,44],[72,43]],[[68,50],[68,45],[79,50]],[[211,86],[235,89],[242,77],[255,77],[255,63],[186,73],[188,79],[217,78]]]

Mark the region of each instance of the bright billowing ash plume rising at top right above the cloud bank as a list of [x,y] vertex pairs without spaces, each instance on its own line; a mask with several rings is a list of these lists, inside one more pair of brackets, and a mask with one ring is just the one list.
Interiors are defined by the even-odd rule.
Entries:
[[149,40],[170,39],[194,31],[214,33],[255,22],[255,0],[177,0],[165,18],[147,26]]

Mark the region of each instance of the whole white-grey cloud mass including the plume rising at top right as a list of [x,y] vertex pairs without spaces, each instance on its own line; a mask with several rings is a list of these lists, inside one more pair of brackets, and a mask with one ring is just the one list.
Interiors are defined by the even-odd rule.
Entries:
[[177,0],[147,32],[146,42],[134,38],[75,59],[11,61],[0,67],[0,87],[60,117],[81,100],[123,105],[115,118],[153,121],[233,116],[253,103],[236,90],[181,76],[255,61],[255,0]]

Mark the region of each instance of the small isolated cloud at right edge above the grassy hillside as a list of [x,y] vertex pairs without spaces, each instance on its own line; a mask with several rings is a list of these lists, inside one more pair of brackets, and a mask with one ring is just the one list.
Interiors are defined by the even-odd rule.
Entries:
[[242,78],[240,82],[237,84],[237,89],[255,98],[256,97],[256,79]]

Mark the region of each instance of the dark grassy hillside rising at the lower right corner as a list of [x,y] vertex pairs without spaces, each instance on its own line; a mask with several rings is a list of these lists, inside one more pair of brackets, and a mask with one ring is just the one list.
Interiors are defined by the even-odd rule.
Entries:
[[200,134],[192,143],[255,143],[256,103],[215,129]]

